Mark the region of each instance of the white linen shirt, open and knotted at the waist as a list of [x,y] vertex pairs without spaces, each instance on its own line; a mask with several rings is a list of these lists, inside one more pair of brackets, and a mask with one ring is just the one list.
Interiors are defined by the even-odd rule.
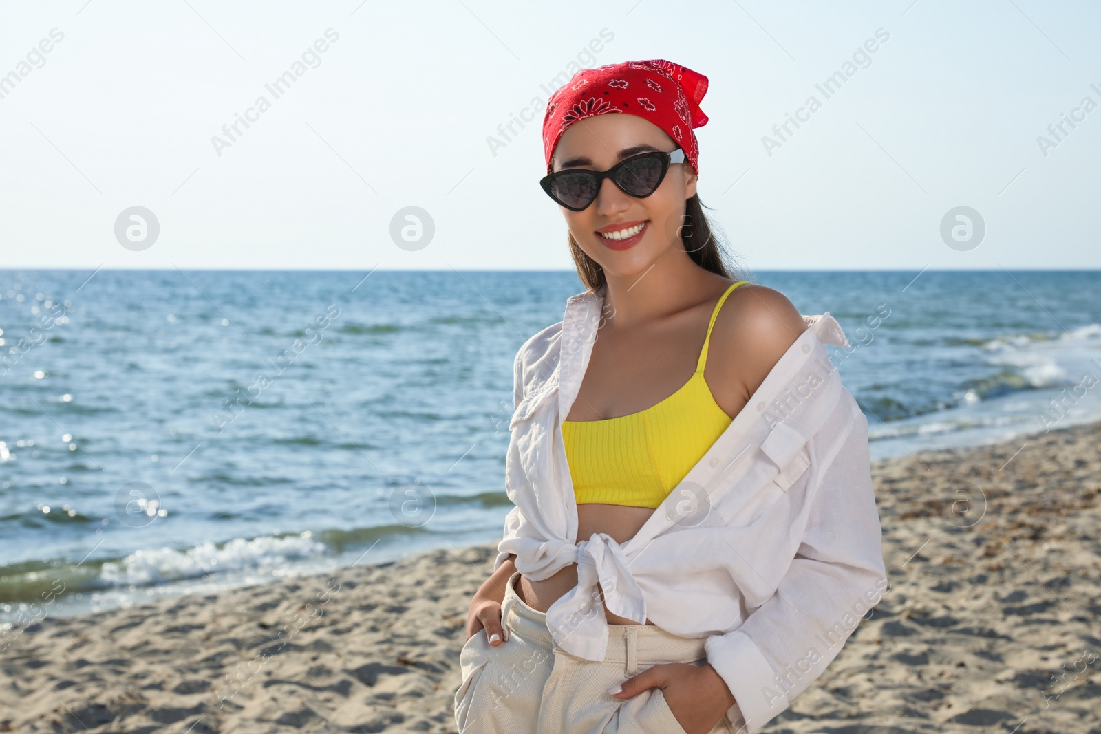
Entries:
[[887,588],[871,479],[868,421],[825,343],[848,348],[829,313],[808,328],[745,407],[637,534],[576,540],[577,503],[562,423],[600,327],[606,286],[566,300],[513,364],[504,521],[510,554],[532,580],[577,563],[578,582],[547,610],[566,653],[602,660],[604,603],[614,614],[707,637],[708,662],[750,734],[820,676]]

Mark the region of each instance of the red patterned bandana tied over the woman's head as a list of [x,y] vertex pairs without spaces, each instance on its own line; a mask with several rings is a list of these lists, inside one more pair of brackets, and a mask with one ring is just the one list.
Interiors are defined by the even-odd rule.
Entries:
[[684,150],[699,175],[699,146],[693,128],[707,124],[699,102],[707,94],[707,77],[663,58],[608,64],[581,69],[547,102],[543,118],[543,151],[550,158],[558,139],[574,122],[606,112],[628,112],[650,120]]

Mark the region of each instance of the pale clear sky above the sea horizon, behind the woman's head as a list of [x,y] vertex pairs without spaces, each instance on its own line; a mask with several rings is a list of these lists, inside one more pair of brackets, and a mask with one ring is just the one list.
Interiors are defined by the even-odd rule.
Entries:
[[[8,2],[0,267],[569,270],[543,106],[645,58],[709,78],[699,193],[752,270],[1101,267],[1101,6],[962,4]],[[410,206],[421,249],[391,238]],[[960,206],[978,247],[941,238]],[[148,249],[116,238],[130,207]]]

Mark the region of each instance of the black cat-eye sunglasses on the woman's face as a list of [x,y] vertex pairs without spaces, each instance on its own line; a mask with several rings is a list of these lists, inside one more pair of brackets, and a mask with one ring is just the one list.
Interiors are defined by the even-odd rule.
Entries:
[[679,147],[672,153],[652,151],[624,158],[608,171],[567,168],[547,174],[539,186],[562,206],[581,211],[596,200],[604,178],[611,178],[624,194],[644,199],[657,190],[671,164],[684,162],[685,152]]

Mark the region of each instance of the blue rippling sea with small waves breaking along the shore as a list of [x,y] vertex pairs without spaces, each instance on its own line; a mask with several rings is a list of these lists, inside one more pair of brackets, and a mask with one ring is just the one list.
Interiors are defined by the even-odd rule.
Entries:
[[[749,280],[841,324],[873,460],[1101,420],[1101,271]],[[0,270],[0,631],[499,539],[513,358],[582,291]]]

